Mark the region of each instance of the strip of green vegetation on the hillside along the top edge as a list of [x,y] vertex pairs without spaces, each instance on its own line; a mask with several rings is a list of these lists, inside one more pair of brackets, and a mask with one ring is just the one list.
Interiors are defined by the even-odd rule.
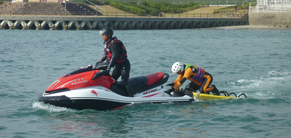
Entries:
[[[134,13],[138,15],[152,15],[156,16],[160,13],[184,13],[188,12],[194,9],[198,9],[201,7],[205,7],[207,5],[225,5],[226,3],[223,3],[222,1],[213,0],[213,1],[202,1],[197,0],[195,2],[183,2],[182,0],[178,2],[178,0],[90,0],[91,2],[88,2],[86,0],[71,0],[73,3],[87,3],[90,4],[95,3],[96,5],[109,5],[112,7],[115,7],[119,10],[126,11],[129,13]],[[139,2],[140,1],[140,2]],[[185,1],[185,0],[184,0]],[[217,1],[217,2],[214,2]],[[226,2],[226,1],[225,1]],[[240,3],[242,2],[242,3]],[[233,9],[234,4],[237,4],[238,9],[248,9],[247,3],[244,1],[233,1],[233,4],[231,4],[231,1],[228,1],[227,9]],[[244,4],[244,5],[243,5]],[[216,9],[213,11],[213,13],[221,13],[226,10],[225,8]]]

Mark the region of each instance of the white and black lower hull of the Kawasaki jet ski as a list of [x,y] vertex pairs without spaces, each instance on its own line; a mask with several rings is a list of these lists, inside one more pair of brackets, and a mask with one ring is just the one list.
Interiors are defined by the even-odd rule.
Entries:
[[38,100],[47,104],[78,110],[111,110],[124,107],[129,104],[193,101],[193,99],[187,95],[183,97],[172,97],[165,93],[165,89],[162,87],[163,86],[159,86],[153,88],[152,90],[135,94],[134,98],[118,95],[105,87],[91,87],[71,91],[69,90],[55,94],[47,94],[44,92],[38,96]]

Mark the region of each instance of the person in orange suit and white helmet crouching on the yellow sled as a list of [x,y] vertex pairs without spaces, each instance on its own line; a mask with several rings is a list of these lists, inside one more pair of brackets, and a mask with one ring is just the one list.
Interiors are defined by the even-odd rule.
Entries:
[[179,74],[179,76],[173,83],[167,85],[172,86],[170,90],[166,91],[167,93],[177,90],[187,79],[192,82],[190,82],[186,88],[191,88],[194,91],[199,90],[201,93],[213,91],[218,94],[219,92],[215,85],[210,86],[213,77],[210,73],[206,72],[205,69],[191,64],[176,62],[172,66],[172,72]]

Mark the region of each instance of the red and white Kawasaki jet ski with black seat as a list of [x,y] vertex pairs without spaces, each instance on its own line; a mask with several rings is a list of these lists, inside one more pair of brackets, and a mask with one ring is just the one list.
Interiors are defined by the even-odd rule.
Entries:
[[39,101],[73,109],[110,110],[135,103],[167,103],[194,101],[191,96],[172,96],[163,84],[169,74],[156,72],[146,76],[129,79],[134,97],[128,97],[121,81],[115,81],[111,75],[102,72],[107,64],[92,65],[77,69],[54,81],[42,94]]

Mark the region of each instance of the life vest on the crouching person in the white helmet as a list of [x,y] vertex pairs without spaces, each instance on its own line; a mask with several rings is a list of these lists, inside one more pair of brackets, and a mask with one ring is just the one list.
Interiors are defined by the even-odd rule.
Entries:
[[[203,76],[204,76],[204,73],[205,73],[205,69],[202,69],[200,67],[197,67],[195,65],[192,65],[192,64],[183,64],[185,65],[186,67],[184,68],[184,71],[190,67],[193,67],[194,69],[197,70],[197,73],[196,75],[193,75],[193,76],[190,76],[188,79],[190,80],[190,78],[192,78],[193,81],[197,82],[199,85],[202,84],[203,82]],[[193,69],[192,69],[193,70]],[[194,70],[193,70],[194,72]]]

